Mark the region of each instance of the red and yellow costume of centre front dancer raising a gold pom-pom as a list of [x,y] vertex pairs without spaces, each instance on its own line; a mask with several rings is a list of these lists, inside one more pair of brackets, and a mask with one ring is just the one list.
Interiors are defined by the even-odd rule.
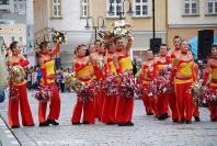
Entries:
[[[117,56],[119,68],[117,72],[133,71],[130,57],[127,53],[124,56]],[[132,121],[134,110],[134,96],[132,98],[119,97],[116,109],[117,123],[127,123]]]

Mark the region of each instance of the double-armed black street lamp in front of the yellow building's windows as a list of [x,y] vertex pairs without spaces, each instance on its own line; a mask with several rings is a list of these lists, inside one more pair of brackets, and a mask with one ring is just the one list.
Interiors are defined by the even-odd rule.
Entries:
[[[134,11],[132,10],[132,2],[130,0],[123,0],[123,2],[121,3],[121,0],[116,0],[117,3],[117,14],[119,15],[119,20],[123,19],[123,15],[125,14],[125,10],[124,10],[124,2],[128,2],[129,4],[129,10],[126,12],[129,15],[133,15]],[[119,4],[122,4],[122,10],[119,10]],[[110,15],[114,14],[113,11],[113,7],[112,7],[112,0],[110,0],[110,11],[107,12]]]

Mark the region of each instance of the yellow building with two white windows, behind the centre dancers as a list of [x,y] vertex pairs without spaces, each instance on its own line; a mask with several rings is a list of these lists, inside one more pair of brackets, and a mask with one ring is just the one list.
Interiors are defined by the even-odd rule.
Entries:
[[[118,20],[117,9],[123,10],[123,0],[117,4],[115,0],[89,0],[89,15],[96,20],[98,16],[105,18],[107,29],[114,21]],[[112,2],[112,3],[111,3]],[[149,41],[152,38],[152,0],[130,0],[133,15],[127,14],[128,1],[124,2],[124,19],[132,25],[132,34],[135,38],[133,44],[134,55],[141,55],[149,48]],[[156,37],[161,37],[162,43],[167,41],[167,0],[156,0]],[[108,13],[112,7],[113,14]],[[140,52],[141,50],[141,52]],[[142,57],[141,57],[142,58]]]

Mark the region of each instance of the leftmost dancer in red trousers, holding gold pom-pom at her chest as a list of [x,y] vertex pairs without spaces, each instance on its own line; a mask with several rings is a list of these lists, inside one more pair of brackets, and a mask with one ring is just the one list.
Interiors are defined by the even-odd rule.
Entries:
[[30,63],[21,54],[22,48],[19,45],[19,42],[12,42],[10,44],[10,50],[11,54],[9,54],[8,56],[9,74],[13,75],[13,72],[18,70],[20,70],[20,72],[22,74],[20,74],[20,77],[11,77],[9,81],[10,85],[9,124],[12,128],[20,127],[20,122],[19,122],[19,106],[20,106],[23,126],[34,126],[33,116],[27,100],[26,82],[24,80],[24,69],[23,69]]

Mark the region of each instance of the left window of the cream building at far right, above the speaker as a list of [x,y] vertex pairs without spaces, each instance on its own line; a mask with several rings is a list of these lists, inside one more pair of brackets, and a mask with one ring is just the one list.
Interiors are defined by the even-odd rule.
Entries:
[[194,15],[198,13],[197,0],[184,0],[184,14]]

